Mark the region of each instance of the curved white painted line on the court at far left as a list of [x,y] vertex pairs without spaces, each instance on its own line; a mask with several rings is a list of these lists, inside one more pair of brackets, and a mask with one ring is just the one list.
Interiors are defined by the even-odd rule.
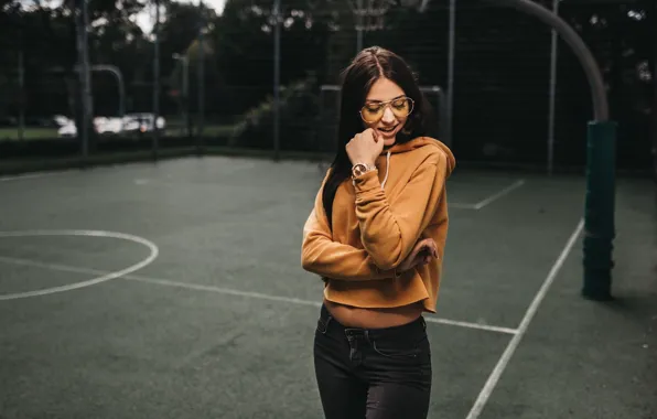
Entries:
[[78,288],[90,287],[95,286],[100,282],[109,281],[110,279],[120,278],[122,276],[129,275],[139,270],[148,265],[150,265],[158,255],[160,254],[160,249],[158,246],[139,236],[133,236],[130,234],[123,233],[115,233],[115,232],[104,232],[104,230],[90,230],[90,229],[60,229],[60,230],[24,230],[24,232],[0,232],[0,238],[7,237],[43,237],[43,236],[83,236],[83,237],[109,237],[109,238],[118,238],[122,240],[133,241],[140,245],[143,245],[150,249],[150,255],[143,259],[142,261],[134,264],[126,269],[117,270],[115,272],[108,272],[104,276],[96,277],[86,281],[75,282],[67,286],[62,287],[53,287],[53,288],[45,288],[42,290],[36,291],[28,291],[28,292],[18,292],[11,294],[0,294],[0,301],[3,300],[18,300],[21,298],[29,298],[29,297],[37,297],[37,296],[47,296],[53,294],[55,292],[64,292],[71,291]]

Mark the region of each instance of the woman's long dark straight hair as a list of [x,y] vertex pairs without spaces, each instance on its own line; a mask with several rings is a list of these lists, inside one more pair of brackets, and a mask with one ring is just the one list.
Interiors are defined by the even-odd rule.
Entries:
[[358,53],[342,73],[337,152],[322,191],[322,204],[328,225],[332,225],[335,193],[352,173],[352,163],[345,147],[356,133],[364,130],[363,119],[358,112],[365,104],[369,89],[381,77],[399,85],[406,96],[414,103],[413,111],[403,129],[397,135],[397,143],[405,143],[427,135],[429,104],[420,92],[416,76],[408,64],[399,55],[379,46],[371,46]]

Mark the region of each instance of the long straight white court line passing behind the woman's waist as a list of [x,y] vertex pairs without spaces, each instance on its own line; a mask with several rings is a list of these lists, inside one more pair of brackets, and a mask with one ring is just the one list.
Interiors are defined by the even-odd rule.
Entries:
[[[23,266],[31,266],[35,268],[44,268],[44,269],[52,269],[52,270],[60,270],[64,272],[75,272],[75,273],[88,273],[88,275],[103,275],[105,271],[99,269],[90,269],[90,268],[79,268],[68,265],[58,265],[58,264],[45,264],[30,259],[21,259],[21,258],[12,258],[0,256],[0,262],[8,262],[8,264],[15,264],[15,265],[23,265]],[[137,275],[125,275],[121,277],[122,279],[152,283],[158,286],[165,286],[165,287],[177,287],[184,288],[190,290],[196,291],[207,291],[207,292],[216,292],[220,294],[227,296],[236,296],[236,297],[246,297],[246,298],[255,298],[259,300],[269,300],[269,301],[278,301],[278,302],[287,302],[291,304],[299,304],[299,305],[312,305],[312,307],[321,307],[322,303],[320,301],[311,301],[311,300],[302,300],[292,297],[279,297],[279,296],[270,296],[263,294],[260,292],[249,292],[249,291],[239,291],[229,288],[222,288],[222,287],[214,287],[214,286],[203,286],[196,283],[186,283],[186,282],[177,282],[177,281],[170,281],[166,279],[157,279],[157,278],[148,278]],[[0,296],[1,297],[1,296]],[[508,327],[500,327],[500,326],[493,326],[487,324],[478,324],[478,323],[470,323],[470,322],[462,322],[457,320],[450,320],[450,319],[442,319],[432,315],[426,316],[427,322],[431,323],[440,323],[446,324],[452,326],[460,326],[460,327],[468,327],[468,329],[477,329],[487,332],[497,332],[497,333],[507,333],[507,334],[516,334],[517,331],[514,329]]]

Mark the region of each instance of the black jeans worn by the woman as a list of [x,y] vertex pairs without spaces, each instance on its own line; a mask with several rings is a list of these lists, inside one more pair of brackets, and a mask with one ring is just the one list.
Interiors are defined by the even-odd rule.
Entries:
[[427,418],[431,348],[423,318],[395,327],[345,327],[322,305],[314,364],[326,419]]

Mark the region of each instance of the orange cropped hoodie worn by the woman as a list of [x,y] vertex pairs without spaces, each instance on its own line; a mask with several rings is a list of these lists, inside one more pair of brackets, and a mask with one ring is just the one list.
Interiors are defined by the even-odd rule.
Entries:
[[[333,202],[333,232],[322,187],[303,227],[301,265],[325,279],[324,298],[359,308],[394,308],[422,301],[435,312],[448,235],[445,181],[454,155],[442,142],[416,138],[385,150],[370,171],[344,182]],[[401,272],[416,243],[431,237],[438,259]]]

